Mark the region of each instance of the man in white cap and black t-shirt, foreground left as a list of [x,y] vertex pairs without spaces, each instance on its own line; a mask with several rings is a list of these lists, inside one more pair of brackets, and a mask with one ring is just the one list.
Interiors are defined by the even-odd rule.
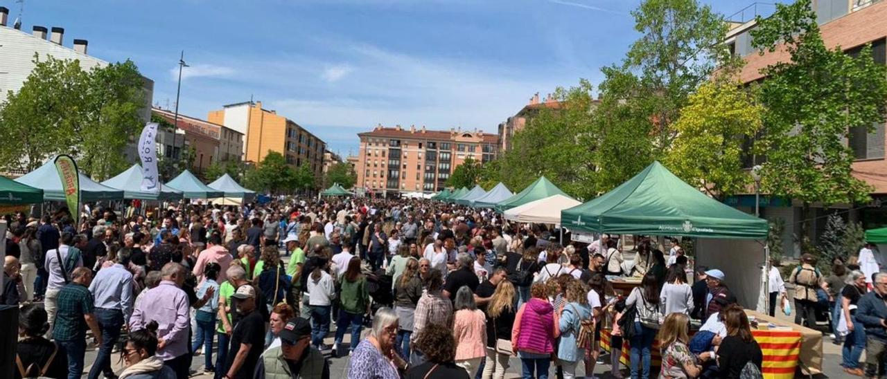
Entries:
[[[225,367],[228,372],[224,379],[247,379],[255,372],[255,363],[262,354],[265,343],[265,321],[255,310],[255,288],[249,284],[238,287],[232,298],[236,298],[240,320],[234,325],[231,336],[231,350]],[[264,305],[262,305],[264,306]]]

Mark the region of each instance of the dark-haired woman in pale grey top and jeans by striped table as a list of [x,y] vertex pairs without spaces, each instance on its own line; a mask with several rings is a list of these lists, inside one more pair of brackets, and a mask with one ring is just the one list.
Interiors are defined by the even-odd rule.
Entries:
[[[659,251],[658,256],[662,258],[662,251]],[[659,293],[656,275],[648,272],[640,281],[640,286],[635,287],[625,300],[625,306],[635,306],[638,310],[634,318],[634,328],[638,332],[632,336],[631,343],[632,378],[648,379],[650,376],[650,349],[662,320]]]

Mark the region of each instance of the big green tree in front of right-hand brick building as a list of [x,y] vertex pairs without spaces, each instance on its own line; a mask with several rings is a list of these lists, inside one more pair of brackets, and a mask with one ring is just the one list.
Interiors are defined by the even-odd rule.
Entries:
[[[869,186],[853,177],[854,154],[845,143],[854,128],[871,130],[884,122],[887,68],[875,63],[871,48],[858,57],[822,42],[810,0],[776,4],[776,12],[757,19],[754,47],[784,49],[790,59],[765,67],[761,84],[766,163],[762,190],[810,204],[860,203]],[[809,222],[802,223],[806,235]]]

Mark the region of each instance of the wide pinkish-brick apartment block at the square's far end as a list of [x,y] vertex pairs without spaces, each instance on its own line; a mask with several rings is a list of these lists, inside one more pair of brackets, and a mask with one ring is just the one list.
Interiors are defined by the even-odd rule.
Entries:
[[355,187],[382,195],[443,190],[453,170],[466,159],[485,163],[498,154],[498,135],[476,129],[379,125],[357,135]]

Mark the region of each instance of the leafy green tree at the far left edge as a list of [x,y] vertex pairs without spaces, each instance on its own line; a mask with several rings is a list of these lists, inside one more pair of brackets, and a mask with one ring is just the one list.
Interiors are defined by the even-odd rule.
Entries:
[[32,171],[59,153],[75,153],[87,73],[76,60],[34,56],[18,92],[0,104],[0,167]]

